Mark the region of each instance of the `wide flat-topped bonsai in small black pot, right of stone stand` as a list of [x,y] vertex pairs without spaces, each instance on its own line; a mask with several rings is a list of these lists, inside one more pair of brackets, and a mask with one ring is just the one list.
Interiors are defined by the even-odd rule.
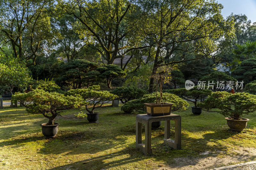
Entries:
[[200,115],[202,113],[202,109],[196,105],[197,101],[201,100],[203,97],[207,97],[212,93],[211,90],[197,89],[197,86],[190,90],[180,88],[169,90],[169,92],[176,94],[185,100],[193,102],[195,106],[192,106],[192,113],[195,115]]

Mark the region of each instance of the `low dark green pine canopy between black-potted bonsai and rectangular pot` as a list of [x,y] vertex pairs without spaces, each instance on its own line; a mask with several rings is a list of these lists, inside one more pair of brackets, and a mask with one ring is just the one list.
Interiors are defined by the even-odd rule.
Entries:
[[143,97],[144,94],[147,94],[145,90],[139,89],[135,86],[116,87],[116,89],[111,91],[110,93],[117,95],[118,99],[122,103],[126,103],[127,101],[134,100],[134,99],[140,99]]

